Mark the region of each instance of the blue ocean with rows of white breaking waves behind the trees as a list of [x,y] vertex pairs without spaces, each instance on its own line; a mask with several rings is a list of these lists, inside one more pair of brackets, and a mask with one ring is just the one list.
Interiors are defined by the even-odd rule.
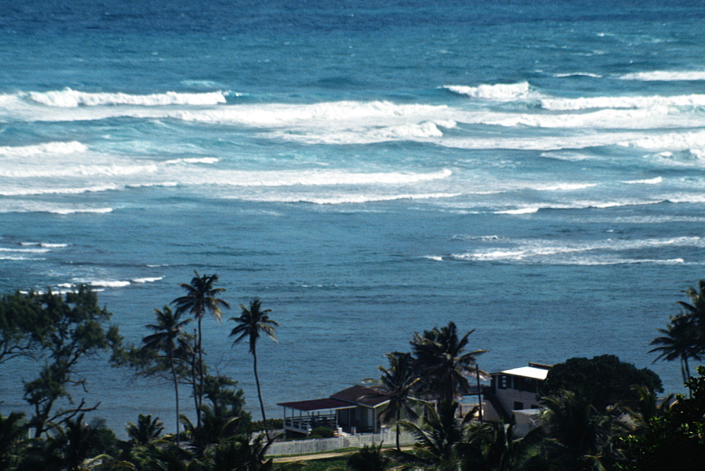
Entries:
[[[139,342],[218,274],[207,360],[255,417],[255,297],[271,417],[449,321],[489,372],[612,353],[683,391],[648,350],[705,277],[704,7],[6,0],[1,292],[86,283]],[[2,413],[34,371],[2,366]],[[109,426],[173,428],[168,384],[82,373]]]

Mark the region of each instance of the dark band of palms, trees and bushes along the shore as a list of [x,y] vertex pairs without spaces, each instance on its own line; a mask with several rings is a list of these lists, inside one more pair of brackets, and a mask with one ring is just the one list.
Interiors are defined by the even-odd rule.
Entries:
[[[680,313],[651,342],[654,361],[678,361],[687,397],[659,399],[663,387],[654,372],[614,355],[570,358],[548,371],[537,398],[539,427],[521,436],[511,421],[485,422],[477,408],[462,410],[461,398],[477,392],[473,386],[484,377],[477,365],[484,350],[470,348],[472,330],[461,334],[449,322],[414,334],[410,352],[386,354],[379,379],[365,383],[373,396],[388,398],[380,419],[395,426],[396,446],[348,453],[328,462],[335,468],[276,465],[267,455],[277,437],[264,414],[257,344],[262,336],[276,340],[278,324],[258,299],[240,305],[230,336],[234,343],[247,341],[252,355],[259,425],[237,382],[211,373],[216,370],[205,360],[201,321],[207,313],[220,319],[229,306],[218,297],[223,289],[216,281],[217,275],[196,273],[180,285],[186,294],[172,302],[175,309],[154,310],[139,345],[125,343],[111,313],[85,286],[0,298],[0,365],[18,357],[39,360],[37,377],[24,384],[31,412],[0,414],[0,469],[700,470],[705,463],[705,367],[692,377],[689,365],[705,357],[705,281],[685,291]],[[197,328],[190,334],[193,321]],[[118,439],[104,420],[89,419],[99,403],[82,398],[82,365],[95,355],[168,381],[176,429],[166,430],[159,417],[145,413],[126,424],[126,439]],[[187,414],[182,389],[193,398]],[[412,447],[400,446],[401,429],[414,437]]]

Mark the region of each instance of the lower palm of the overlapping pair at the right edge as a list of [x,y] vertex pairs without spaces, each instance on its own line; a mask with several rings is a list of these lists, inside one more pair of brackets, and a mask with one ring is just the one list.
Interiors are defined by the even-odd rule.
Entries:
[[649,353],[658,352],[656,360],[680,360],[680,374],[684,384],[690,378],[688,359],[700,360],[703,355],[701,335],[695,324],[695,318],[688,314],[672,316],[666,329],[658,329],[663,336],[654,338],[649,344],[659,345],[649,350]]

